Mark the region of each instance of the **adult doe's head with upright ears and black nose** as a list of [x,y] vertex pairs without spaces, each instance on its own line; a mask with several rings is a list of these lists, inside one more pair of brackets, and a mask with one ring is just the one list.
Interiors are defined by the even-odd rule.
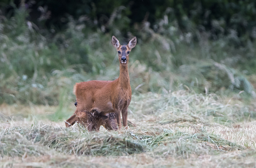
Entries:
[[115,36],[112,36],[112,45],[116,47],[118,59],[121,65],[126,65],[129,62],[129,54],[131,49],[135,47],[136,43],[137,38],[133,37],[126,46],[122,46],[120,45],[118,39]]

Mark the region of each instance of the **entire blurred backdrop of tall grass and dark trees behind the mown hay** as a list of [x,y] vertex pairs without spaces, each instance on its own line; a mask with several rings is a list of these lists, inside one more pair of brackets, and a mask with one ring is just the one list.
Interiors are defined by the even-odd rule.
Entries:
[[60,105],[75,82],[119,76],[115,35],[137,36],[133,94],[238,94],[255,98],[253,0],[0,2],[0,104]]

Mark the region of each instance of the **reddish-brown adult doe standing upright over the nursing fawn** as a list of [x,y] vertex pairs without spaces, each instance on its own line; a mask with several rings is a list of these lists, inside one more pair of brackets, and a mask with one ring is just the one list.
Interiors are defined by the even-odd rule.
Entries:
[[118,129],[121,129],[121,112],[123,124],[127,126],[127,109],[132,99],[132,89],[128,72],[129,54],[135,47],[137,38],[133,37],[127,45],[120,45],[115,36],[112,45],[116,47],[119,60],[119,78],[114,81],[92,80],[76,83],[74,94],[77,100],[76,112],[97,111],[100,113],[97,128],[107,118],[106,113],[115,113]]

